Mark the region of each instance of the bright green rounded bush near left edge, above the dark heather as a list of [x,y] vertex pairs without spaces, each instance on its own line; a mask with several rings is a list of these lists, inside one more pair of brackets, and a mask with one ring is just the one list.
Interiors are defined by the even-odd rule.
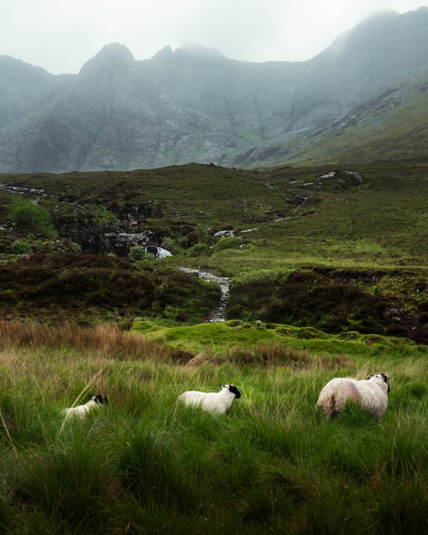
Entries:
[[31,203],[30,200],[14,198],[9,208],[9,218],[18,228],[29,230],[45,236],[56,236],[54,224],[48,210],[43,206]]

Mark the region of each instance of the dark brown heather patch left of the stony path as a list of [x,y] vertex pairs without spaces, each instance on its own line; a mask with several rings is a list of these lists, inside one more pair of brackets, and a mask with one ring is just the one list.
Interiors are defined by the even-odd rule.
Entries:
[[[4,294],[11,289],[14,307]],[[107,255],[36,253],[0,263],[0,297],[0,317],[21,320],[87,324],[142,314],[165,317],[166,309],[168,318],[200,322],[218,304],[220,286],[155,261],[136,265],[130,258]]]

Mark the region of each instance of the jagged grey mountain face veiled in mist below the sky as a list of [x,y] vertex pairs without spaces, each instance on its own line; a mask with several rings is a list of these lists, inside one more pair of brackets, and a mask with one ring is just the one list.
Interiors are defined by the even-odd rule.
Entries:
[[0,88],[0,172],[230,165],[250,148],[334,120],[427,58],[428,9],[365,21],[300,63],[168,47],[136,61],[112,44],[78,75],[53,76],[0,58],[0,73],[9,69]]

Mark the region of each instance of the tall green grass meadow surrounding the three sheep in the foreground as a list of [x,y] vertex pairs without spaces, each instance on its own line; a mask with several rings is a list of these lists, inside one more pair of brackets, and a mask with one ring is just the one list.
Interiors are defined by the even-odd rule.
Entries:
[[[291,327],[258,341],[260,325],[246,327],[180,360],[191,327],[171,343],[138,322],[131,332],[1,322],[1,531],[426,532],[427,347]],[[333,420],[317,411],[328,379],[372,371],[391,378],[380,421],[352,405]],[[242,392],[226,416],[177,403],[225,382]],[[65,422],[61,409],[89,392],[108,405]]]

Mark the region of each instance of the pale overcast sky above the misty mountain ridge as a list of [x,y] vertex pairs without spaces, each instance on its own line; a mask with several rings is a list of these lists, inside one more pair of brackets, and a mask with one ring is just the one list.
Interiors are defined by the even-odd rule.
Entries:
[[105,45],[138,60],[199,44],[246,61],[302,61],[375,11],[427,0],[0,0],[0,54],[76,73]]

